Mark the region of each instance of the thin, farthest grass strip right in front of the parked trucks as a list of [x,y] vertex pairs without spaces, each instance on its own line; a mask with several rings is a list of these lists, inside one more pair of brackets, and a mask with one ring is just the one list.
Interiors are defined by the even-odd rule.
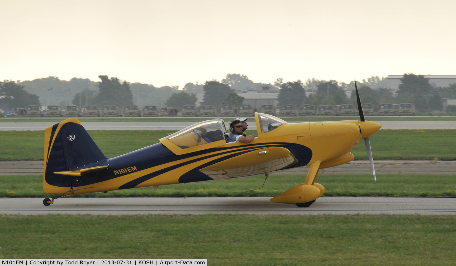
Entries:
[[[82,118],[81,122],[201,122],[204,120],[222,118],[225,122],[235,117],[104,117],[104,118]],[[352,117],[280,117],[285,121],[336,121],[336,120],[359,120],[359,116]],[[67,118],[0,118],[0,122],[61,122]],[[455,121],[456,116],[366,116],[370,121]],[[254,120],[253,118],[251,120]]]

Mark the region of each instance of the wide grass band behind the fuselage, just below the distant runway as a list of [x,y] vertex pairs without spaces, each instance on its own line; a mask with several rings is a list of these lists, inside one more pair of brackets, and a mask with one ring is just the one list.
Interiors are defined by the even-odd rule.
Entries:
[[[88,130],[110,158],[149,146],[173,130]],[[247,134],[256,134],[248,130]],[[0,160],[43,160],[43,131],[0,131]],[[379,130],[370,137],[373,158],[456,160],[456,130]],[[113,145],[115,144],[115,145]],[[355,160],[367,159],[364,143],[352,150]]]

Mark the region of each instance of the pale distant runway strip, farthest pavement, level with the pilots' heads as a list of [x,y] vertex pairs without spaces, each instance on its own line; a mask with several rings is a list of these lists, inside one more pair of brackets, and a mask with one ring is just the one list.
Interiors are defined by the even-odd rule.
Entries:
[[[337,120],[337,119],[336,119]],[[225,121],[228,128],[229,121]],[[381,129],[456,129],[456,121],[374,121]],[[197,122],[82,122],[87,130],[181,130]],[[290,123],[299,123],[292,121]],[[0,130],[44,130],[56,122],[1,122]],[[249,129],[256,130],[254,121]]]

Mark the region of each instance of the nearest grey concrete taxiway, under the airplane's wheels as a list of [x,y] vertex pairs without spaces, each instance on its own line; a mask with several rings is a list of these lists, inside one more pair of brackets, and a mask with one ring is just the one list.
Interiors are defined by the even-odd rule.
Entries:
[[0,198],[0,214],[449,214],[456,198],[318,198],[308,208],[270,198]]

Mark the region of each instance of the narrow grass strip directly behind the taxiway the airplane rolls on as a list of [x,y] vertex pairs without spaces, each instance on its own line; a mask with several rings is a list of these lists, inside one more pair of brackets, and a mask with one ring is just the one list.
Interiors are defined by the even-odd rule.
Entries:
[[[160,186],[157,191],[133,188],[76,197],[273,197],[303,183],[306,174],[270,175],[265,183],[264,176],[259,176]],[[325,187],[325,197],[456,197],[454,175],[379,174],[373,181],[369,174],[321,174],[316,182]],[[41,175],[0,176],[0,197],[49,196],[43,192]]]

